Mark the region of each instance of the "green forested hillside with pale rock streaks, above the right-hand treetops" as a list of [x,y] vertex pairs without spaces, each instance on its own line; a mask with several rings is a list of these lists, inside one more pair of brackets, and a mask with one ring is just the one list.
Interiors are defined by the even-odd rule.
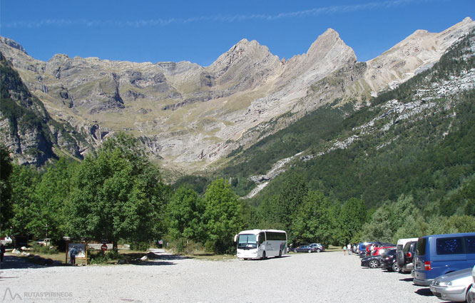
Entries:
[[[310,188],[336,200],[358,197],[372,207],[403,193],[414,195],[419,205],[441,199],[475,172],[474,90],[443,96],[434,89],[474,68],[471,43],[473,35],[451,48],[433,68],[380,94],[359,111],[352,113],[349,104],[318,109],[237,155],[231,161],[237,165],[223,174],[233,178],[262,174],[276,160],[306,151],[315,157],[295,161],[286,174],[302,174]],[[418,93],[429,89],[434,91],[430,100],[422,100]],[[393,100],[400,107],[417,103],[420,110],[401,118],[388,105]],[[362,128],[371,122],[370,131]],[[335,141],[352,136],[356,139],[347,148],[326,152]],[[317,155],[320,152],[325,154]],[[272,180],[252,204],[259,205],[276,192],[286,174]]]

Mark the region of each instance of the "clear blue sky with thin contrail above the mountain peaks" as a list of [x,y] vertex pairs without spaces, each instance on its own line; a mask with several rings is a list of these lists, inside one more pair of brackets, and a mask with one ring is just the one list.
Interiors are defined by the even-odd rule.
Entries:
[[0,35],[43,61],[66,53],[208,66],[242,38],[290,58],[328,28],[367,61],[417,29],[475,19],[474,0],[0,1]]

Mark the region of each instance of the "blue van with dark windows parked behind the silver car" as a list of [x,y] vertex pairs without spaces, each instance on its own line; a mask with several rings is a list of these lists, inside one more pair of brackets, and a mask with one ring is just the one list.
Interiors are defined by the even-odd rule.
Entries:
[[414,256],[414,284],[429,286],[442,274],[474,265],[475,232],[419,237]]

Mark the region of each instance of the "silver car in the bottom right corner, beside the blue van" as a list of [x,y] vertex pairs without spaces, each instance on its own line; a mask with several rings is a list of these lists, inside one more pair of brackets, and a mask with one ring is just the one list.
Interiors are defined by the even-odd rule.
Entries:
[[470,302],[469,292],[472,284],[472,268],[466,268],[436,277],[429,289],[443,301]]

